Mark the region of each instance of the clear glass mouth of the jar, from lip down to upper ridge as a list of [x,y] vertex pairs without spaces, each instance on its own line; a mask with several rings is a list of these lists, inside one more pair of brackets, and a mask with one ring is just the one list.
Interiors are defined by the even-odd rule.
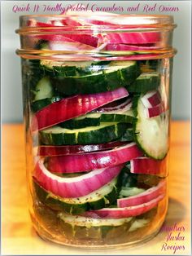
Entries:
[[[105,22],[105,17],[111,19]],[[64,24],[63,19],[81,20],[81,24]],[[93,24],[89,19],[102,21],[101,24]],[[103,24],[104,20],[104,24]],[[54,24],[54,22],[59,24]],[[76,20],[75,20],[76,21]],[[78,21],[77,21],[78,22]],[[39,23],[39,24],[38,24]],[[49,24],[43,26],[41,23]],[[30,24],[30,25],[29,25]],[[118,15],[114,13],[103,14],[76,14],[76,15],[21,15],[20,28],[15,32],[19,34],[35,33],[121,33],[121,32],[146,32],[146,31],[170,31],[176,28],[172,15]]]

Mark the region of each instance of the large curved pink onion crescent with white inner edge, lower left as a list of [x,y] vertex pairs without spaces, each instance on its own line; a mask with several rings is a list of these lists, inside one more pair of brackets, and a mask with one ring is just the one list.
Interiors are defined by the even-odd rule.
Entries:
[[34,177],[40,183],[42,188],[62,197],[80,197],[94,192],[98,188],[109,183],[111,179],[116,178],[122,169],[122,165],[111,168],[93,170],[74,178],[63,178],[51,174],[44,165],[44,159],[37,161],[34,170]]

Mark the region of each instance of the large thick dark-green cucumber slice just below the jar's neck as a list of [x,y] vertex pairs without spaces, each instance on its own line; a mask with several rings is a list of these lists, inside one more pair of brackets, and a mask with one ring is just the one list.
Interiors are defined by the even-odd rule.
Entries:
[[51,79],[60,93],[76,95],[98,93],[115,90],[121,86],[129,86],[139,74],[140,69],[136,61],[113,61],[99,72],[76,76],[57,73],[57,77]]

